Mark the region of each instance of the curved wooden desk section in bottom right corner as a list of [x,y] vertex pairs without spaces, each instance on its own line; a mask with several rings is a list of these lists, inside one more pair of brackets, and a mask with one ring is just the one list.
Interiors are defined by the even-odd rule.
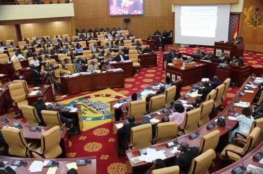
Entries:
[[[261,142],[257,147],[255,147],[250,153],[246,154],[243,158],[240,160],[232,163],[231,165],[225,167],[224,169],[221,169],[213,174],[233,174],[231,171],[238,166],[245,166],[247,167],[248,164],[252,164],[257,167],[263,168],[263,164],[259,163],[258,160],[254,159],[253,156],[256,155],[258,152],[263,152],[263,142]],[[248,173],[244,173],[248,174]]]

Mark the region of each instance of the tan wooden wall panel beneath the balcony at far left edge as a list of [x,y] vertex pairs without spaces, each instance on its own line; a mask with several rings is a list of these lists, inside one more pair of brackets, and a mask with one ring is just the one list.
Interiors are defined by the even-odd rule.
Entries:
[[5,42],[9,39],[14,39],[15,43],[17,43],[17,32],[15,25],[0,25],[0,40]]

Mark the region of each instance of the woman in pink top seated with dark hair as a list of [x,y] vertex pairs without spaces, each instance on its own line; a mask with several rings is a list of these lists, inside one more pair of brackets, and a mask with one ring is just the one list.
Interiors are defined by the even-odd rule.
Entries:
[[169,115],[169,121],[176,122],[177,125],[179,126],[184,123],[184,119],[187,111],[185,110],[184,106],[180,103],[176,103],[174,105],[174,111],[175,112]]

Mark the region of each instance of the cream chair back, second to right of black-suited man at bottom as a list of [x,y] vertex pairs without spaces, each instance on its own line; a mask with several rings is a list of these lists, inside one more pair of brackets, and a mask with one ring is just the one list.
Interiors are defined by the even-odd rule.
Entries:
[[200,146],[198,148],[199,154],[203,154],[208,149],[215,150],[215,148],[218,144],[219,138],[220,138],[220,131],[219,130],[214,130],[214,131],[204,135],[201,138]]

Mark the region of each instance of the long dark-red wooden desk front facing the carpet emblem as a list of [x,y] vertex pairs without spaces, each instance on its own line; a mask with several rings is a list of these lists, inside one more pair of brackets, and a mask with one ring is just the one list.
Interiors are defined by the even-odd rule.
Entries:
[[124,71],[60,77],[62,93],[72,95],[83,91],[124,87]]

